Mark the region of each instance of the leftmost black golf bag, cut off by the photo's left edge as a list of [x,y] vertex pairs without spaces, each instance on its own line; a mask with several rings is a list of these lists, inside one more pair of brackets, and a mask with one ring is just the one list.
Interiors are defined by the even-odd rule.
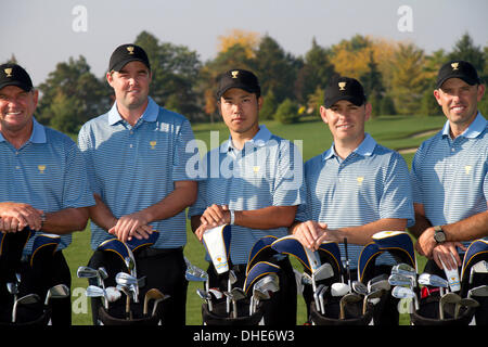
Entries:
[[[23,249],[33,236],[33,254],[24,261]],[[0,324],[47,325],[53,305],[59,304],[49,298],[70,301],[68,286],[61,284],[66,282],[65,269],[56,261],[61,255],[56,254],[60,236],[25,228],[16,233],[1,233],[0,237]],[[48,295],[44,300],[54,285],[61,286],[64,295]]]

